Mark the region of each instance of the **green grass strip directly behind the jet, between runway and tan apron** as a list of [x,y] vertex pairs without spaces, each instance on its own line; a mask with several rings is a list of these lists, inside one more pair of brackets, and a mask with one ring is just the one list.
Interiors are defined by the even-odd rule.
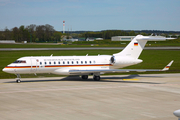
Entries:
[[[68,56],[68,55],[112,55],[113,53],[119,52],[118,50],[70,50],[70,51],[1,51],[0,52],[0,79],[2,78],[16,78],[13,74],[4,73],[2,69],[14,62],[16,59],[24,56]],[[127,68],[131,69],[162,69],[167,65],[171,60],[174,60],[173,65],[170,68],[170,71],[166,72],[146,72],[146,73],[180,73],[180,50],[144,50],[140,56],[140,59],[143,60],[142,63],[130,66]],[[112,74],[138,74],[136,72],[130,73],[112,73]],[[142,73],[141,73],[142,74]],[[25,77],[36,77],[33,74],[31,75],[21,75]],[[58,76],[52,74],[40,74],[37,77],[47,77],[47,76]]]

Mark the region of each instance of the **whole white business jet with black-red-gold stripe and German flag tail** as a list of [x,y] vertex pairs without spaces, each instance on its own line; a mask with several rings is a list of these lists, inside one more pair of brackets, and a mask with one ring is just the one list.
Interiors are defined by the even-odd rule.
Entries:
[[118,69],[141,63],[142,60],[138,57],[147,41],[166,39],[172,38],[137,35],[121,52],[113,55],[22,57],[6,66],[3,71],[16,74],[18,83],[21,82],[20,74],[81,75],[82,79],[88,79],[88,75],[93,75],[93,79],[99,81],[100,74],[104,73],[166,71],[169,70],[173,60],[163,69]]

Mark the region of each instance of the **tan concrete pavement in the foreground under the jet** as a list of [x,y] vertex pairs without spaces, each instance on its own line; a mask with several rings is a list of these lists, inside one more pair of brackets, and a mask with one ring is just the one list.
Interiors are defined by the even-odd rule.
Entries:
[[180,74],[0,79],[0,116],[8,120],[176,120]]

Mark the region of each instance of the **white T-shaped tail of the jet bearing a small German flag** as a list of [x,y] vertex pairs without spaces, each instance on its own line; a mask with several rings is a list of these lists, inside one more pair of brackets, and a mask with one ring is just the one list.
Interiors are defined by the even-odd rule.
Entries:
[[143,36],[137,35],[121,52],[113,54],[114,56],[128,56],[134,59],[138,59],[147,41],[165,41],[166,39],[162,36]]

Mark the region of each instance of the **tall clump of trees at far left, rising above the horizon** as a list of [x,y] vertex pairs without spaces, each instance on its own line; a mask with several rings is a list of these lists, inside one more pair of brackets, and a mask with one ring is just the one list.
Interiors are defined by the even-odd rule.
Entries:
[[0,31],[0,40],[15,40],[16,42],[57,42],[61,40],[61,36],[62,33],[55,31],[49,24],[31,24],[26,27],[21,25],[19,28],[5,28],[4,31]]

